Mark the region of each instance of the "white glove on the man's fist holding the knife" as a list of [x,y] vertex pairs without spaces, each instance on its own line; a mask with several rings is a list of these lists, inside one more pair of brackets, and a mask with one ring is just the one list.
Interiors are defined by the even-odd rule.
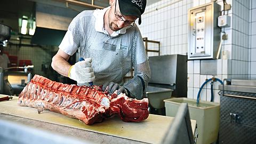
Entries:
[[92,69],[92,58],[86,58],[83,61],[78,61],[71,66],[68,71],[68,77],[77,83],[89,83],[95,79]]

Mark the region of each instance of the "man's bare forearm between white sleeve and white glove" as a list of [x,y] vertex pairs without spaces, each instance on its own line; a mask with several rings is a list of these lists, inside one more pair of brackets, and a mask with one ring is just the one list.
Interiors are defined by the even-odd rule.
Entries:
[[70,67],[71,65],[62,57],[55,55],[52,58],[52,68],[59,74],[68,77],[68,70]]

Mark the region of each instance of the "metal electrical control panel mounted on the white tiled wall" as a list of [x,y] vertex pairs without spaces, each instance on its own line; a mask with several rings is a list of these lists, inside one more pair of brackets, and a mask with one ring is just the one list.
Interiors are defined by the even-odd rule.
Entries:
[[220,44],[220,5],[211,2],[188,11],[188,59],[216,59]]

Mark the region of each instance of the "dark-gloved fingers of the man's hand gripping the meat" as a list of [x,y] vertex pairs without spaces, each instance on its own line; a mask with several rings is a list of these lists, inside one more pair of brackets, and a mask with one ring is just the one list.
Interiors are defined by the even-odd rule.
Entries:
[[[108,89],[107,89],[108,87]],[[129,92],[124,88],[124,86],[120,86],[117,83],[109,82],[105,83],[102,86],[102,90],[105,91],[107,89],[108,93],[111,95],[117,90],[117,94],[125,93],[129,97]]]

